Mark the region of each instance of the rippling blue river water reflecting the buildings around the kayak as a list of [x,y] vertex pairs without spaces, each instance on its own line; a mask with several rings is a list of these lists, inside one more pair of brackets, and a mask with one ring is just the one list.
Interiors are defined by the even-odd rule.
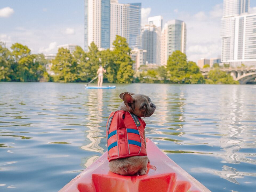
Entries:
[[106,121],[125,91],[150,96],[146,136],[199,182],[256,190],[256,85],[116,86],[0,83],[0,191],[61,189],[106,150]]

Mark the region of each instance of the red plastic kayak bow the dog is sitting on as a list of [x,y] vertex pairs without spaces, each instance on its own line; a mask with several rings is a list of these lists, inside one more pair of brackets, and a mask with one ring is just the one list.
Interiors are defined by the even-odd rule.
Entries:
[[107,153],[65,185],[60,192],[209,192],[210,190],[179,167],[150,139],[146,175],[124,176],[109,170]]

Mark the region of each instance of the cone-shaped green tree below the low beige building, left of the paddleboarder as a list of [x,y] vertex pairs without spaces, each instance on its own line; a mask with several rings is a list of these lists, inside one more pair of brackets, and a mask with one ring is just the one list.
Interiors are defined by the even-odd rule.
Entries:
[[75,82],[78,79],[77,64],[73,62],[73,56],[69,50],[59,48],[52,62],[51,70],[55,73],[53,76],[55,82]]

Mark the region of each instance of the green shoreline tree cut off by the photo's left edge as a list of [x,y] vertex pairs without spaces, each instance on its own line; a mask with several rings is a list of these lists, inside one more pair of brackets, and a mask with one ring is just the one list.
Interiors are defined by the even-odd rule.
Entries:
[[13,58],[5,44],[0,42],[0,81],[11,81]]

